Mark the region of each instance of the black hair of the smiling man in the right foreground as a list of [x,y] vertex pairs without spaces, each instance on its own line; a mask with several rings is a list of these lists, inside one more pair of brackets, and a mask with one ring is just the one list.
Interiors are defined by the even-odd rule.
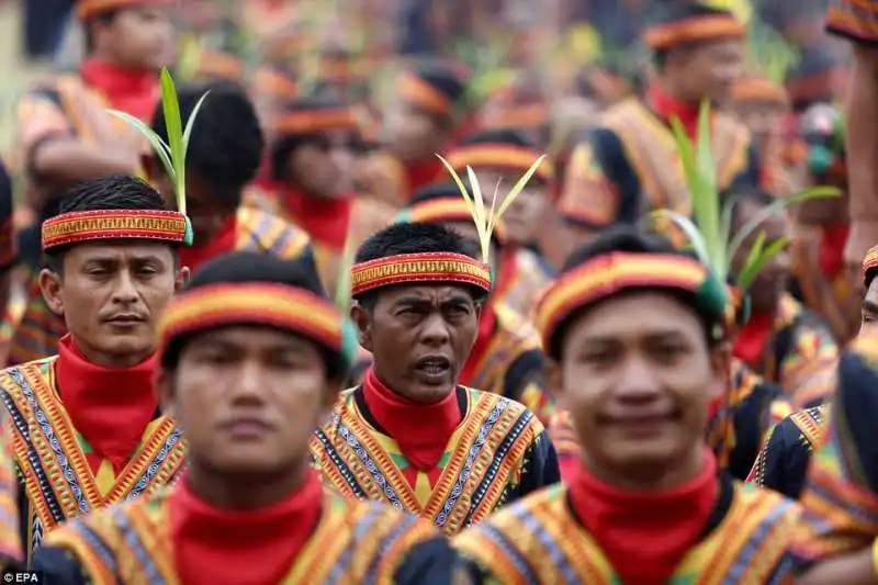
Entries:
[[[616,225],[599,233],[598,236],[592,241],[574,249],[564,261],[564,266],[561,269],[561,275],[563,277],[563,274],[576,270],[582,265],[594,260],[595,258],[612,252],[642,254],[645,256],[672,255],[683,258],[691,258],[690,255],[682,251],[664,236],[646,233],[630,225]],[[641,290],[650,290],[650,286],[645,285]],[[655,290],[667,292],[677,297],[686,306],[693,307],[693,311],[695,311],[695,313],[698,315],[698,319],[701,323],[705,340],[707,341],[708,347],[712,348],[717,345],[718,340],[713,334],[719,322],[716,316],[711,316],[706,312],[696,308],[697,304],[695,293],[688,293],[682,290],[668,290],[660,286],[656,286]],[[570,324],[573,323],[585,311],[592,310],[600,303],[601,301],[589,303],[578,307],[576,311],[567,315],[555,328],[555,331],[549,344],[550,347],[545,348],[547,353],[553,359],[560,360],[562,355],[562,342],[566,336]]]

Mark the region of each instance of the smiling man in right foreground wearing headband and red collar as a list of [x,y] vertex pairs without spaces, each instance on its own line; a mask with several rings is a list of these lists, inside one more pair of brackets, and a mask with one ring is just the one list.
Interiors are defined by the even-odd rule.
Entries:
[[574,251],[537,313],[584,457],[567,486],[455,537],[473,581],[790,578],[796,505],[732,481],[705,440],[728,392],[725,290],[666,239],[630,228]]

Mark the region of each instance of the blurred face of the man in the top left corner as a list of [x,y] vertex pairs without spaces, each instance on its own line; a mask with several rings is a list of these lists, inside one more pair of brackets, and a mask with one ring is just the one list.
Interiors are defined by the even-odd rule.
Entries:
[[126,67],[155,69],[169,65],[173,27],[165,8],[134,5],[109,24],[95,25],[98,46]]

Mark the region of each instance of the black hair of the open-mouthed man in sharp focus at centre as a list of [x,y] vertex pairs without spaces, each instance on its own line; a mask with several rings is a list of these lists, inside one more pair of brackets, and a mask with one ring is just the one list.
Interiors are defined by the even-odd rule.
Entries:
[[[479,259],[477,245],[453,229],[440,224],[399,223],[385,227],[367,239],[357,250],[356,261],[368,262],[401,254],[451,252]],[[466,286],[475,303],[484,302],[486,293],[475,286]],[[381,290],[356,296],[367,310],[373,310]]]

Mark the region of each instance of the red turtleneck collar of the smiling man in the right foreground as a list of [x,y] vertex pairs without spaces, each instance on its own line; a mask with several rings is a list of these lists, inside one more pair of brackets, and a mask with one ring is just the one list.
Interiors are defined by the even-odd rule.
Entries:
[[624,492],[578,465],[570,485],[571,505],[621,583],[667,583],[698,542],[719,498],[717,461],[706,451],[698,475],[660,494]]

